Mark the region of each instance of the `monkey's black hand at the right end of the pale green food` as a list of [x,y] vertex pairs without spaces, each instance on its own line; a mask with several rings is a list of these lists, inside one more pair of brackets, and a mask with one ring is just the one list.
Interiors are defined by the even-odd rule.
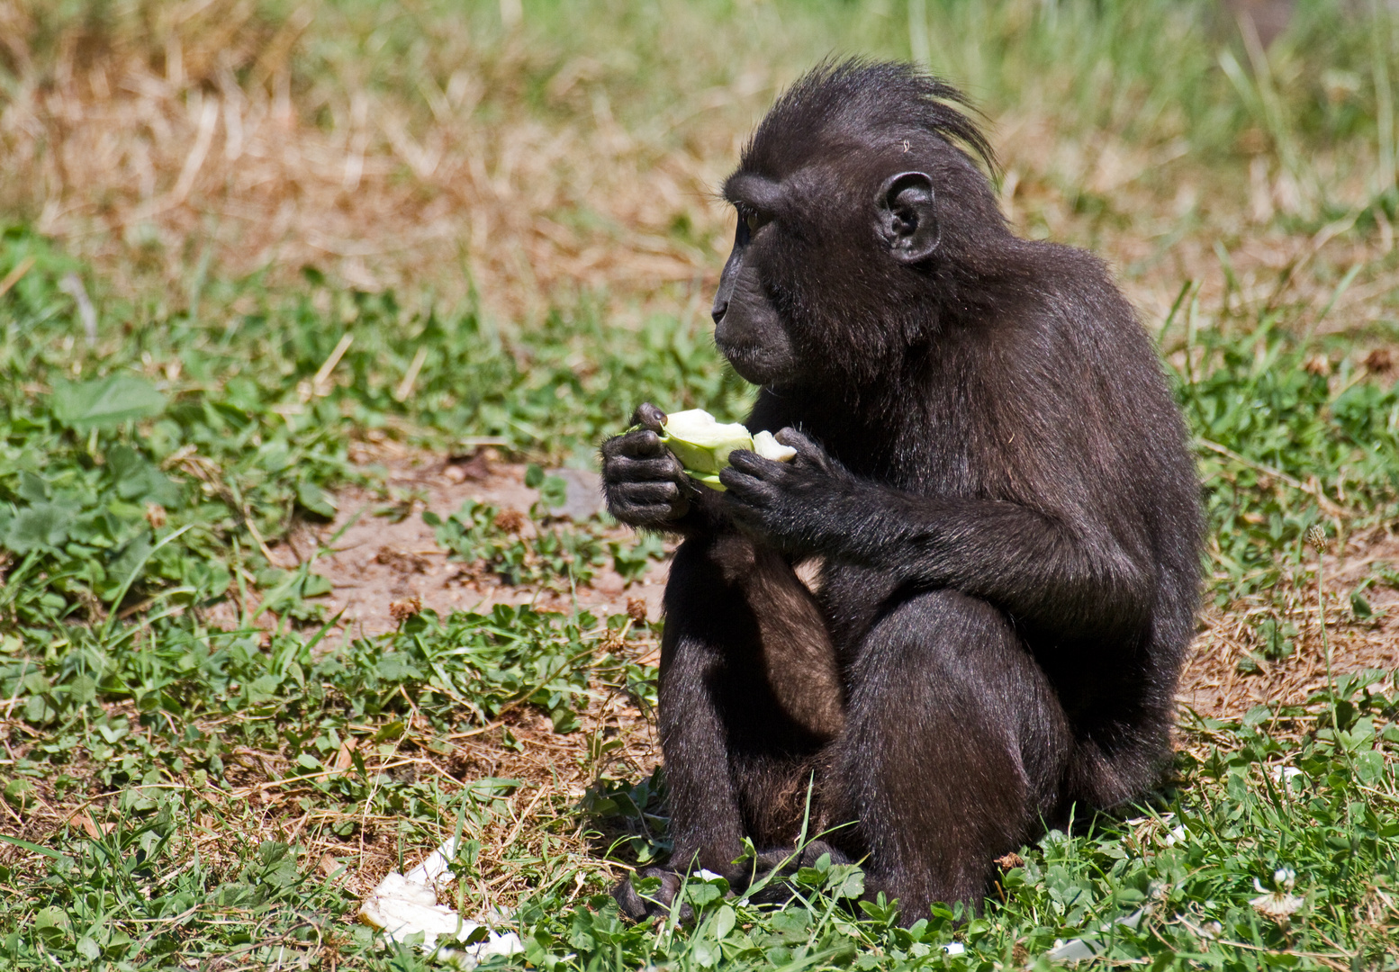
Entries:
[[831,510],[855,494],[858,483],[796,429],[785,428],[776,438],[796,449],[790,463],[762,459],[746,449],[729,453],[729,469],[719,473],[727,489],[725,509],[741,530],[782,551],[820,550]]

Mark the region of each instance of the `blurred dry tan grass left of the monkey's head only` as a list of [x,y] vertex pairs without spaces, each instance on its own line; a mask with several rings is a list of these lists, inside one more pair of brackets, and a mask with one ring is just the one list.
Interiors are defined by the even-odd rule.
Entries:
[[[25,46],[38,6],[0,3],[18,66],[0,101],[0,204],[102,269],[178,291],[207,249],[234,277],[312,264],[371,291],[476,287],[525,317],[561,290],[645,292],[713,269],[725,217],[708,192],[739,130],[690,119],[709,154],[659,154],[613,117],[588,59],[548,78],[546,99],[578,110],[546,122],[523,103],[539,66],[519,38],[456,39],[438,55],[457,63],[445,90],[424,74],[409,102],[358,83],[353,63],[294,84],[295,45],[330,17],[316,4],[276,27],[246,0],[157,4],[144,34],[70,29],[52,64]],[[697,92],[684,108],[741,99]]]

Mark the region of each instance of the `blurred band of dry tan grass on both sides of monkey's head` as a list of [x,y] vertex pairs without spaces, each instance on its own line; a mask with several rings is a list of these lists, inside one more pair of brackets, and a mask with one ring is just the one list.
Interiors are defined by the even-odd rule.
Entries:
[[[253,0],[143,3],[141,17],[67,24],[57,36],[43,8],[0,0],[13,71],[0,94],[0,207],[91,260],[120,294],[155,285],[176,303],[207,260],[207,273],[273,284],[311,264],[362,290],[431,288],[450,301],[474,288],[525,322],[579,291],[674,308],[712,285],[730,225],[713,187],[800,67],[680,83],[663,110],[627,124],[611,101],[628,97],[614,91],[624,73],[604,52],[569,55],[519,29],[481,36],[425,18],[431,63],[402,66],[389,85],[367,77],[353,45],[322,55],[313,76],[299,70],[311,39],[326,46],[348,31],[316,0],[284,18]],[[1315,313],[1358,262],[1328,327],[1379,313],[1396,283],[1386,225],[1361,239],[1344,234],[1353,215],[1319,232],[1274,220],[1314,214],[1322,185],[1332,206],[1361,206],[1367,166],[1354,147],[1314,154],[1301,185],[1254,133],[1245,176],[1195,161],[1181,138],[1067,137],[1048,98],[1027,91],[993,119],[1004,207],[1028,232],[1130,267],[1149,320],[1182,280],[1200,281],[1205,306],[1219,302],[1219,239],[1241,241],[1235,306],[1301,302]],[[1086,211],[1084,199],[1108,211]]]

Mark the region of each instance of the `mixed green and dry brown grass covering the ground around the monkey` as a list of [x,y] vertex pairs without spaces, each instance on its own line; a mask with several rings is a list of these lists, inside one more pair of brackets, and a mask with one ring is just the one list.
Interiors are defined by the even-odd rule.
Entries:
[[[431,966],[353,916],[453,834],[513,965],[1399,966],[1393,24],[1300,4],[1263,52],[1164,0],[515,10],[0,3],[0,966]],[[347,487],[418,515],[385,443],[588,466],[637,401],[741,414],[708,193],[832,49],[967,85],[1021,232],[1102,252],[1158,334],[1219,699],[1160,793],[1024,848],[979,916],[901,929],[817,866],[782,909],[695,878],[694,926],[625,926],[607,887],[667,850],[659,622],[353,638],[284,551]],[[660,555],[527,483],[438,544],[565,596]]]

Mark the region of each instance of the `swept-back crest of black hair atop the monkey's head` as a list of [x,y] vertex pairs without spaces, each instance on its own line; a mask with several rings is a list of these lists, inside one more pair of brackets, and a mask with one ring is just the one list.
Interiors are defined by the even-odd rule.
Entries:
[[788,145],[862,140],[872,133],[897,138],[914,130],[970,150],[995,178],[1000,171],[996,152],[961,108],[974,110],[963,92],[914,64],[860,57],[825,62],[772,105],[743,147],[741,168],[785,168],[772,155]]

